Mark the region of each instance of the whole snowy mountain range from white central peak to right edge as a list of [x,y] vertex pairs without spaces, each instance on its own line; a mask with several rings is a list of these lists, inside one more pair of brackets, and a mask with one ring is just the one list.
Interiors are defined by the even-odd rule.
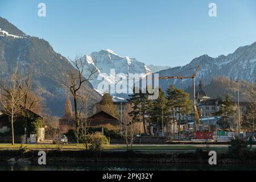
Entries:
[[[98,73],[90,81],[96,90],[101,81],[97,80],[98,76],[108,80],[110,84],[114,82],[118,84],[118,80],[110,77],[110,69],[114,69],[116,75],[122,73],[124,76],[129,73],[138,73],[146,76],[155,72],[159,73],[159,76],[191,76],[195,72],[195,67],[200,65],[200,70],[196,76],[196,84],[199,84],[199,77],[207,85],[216,76],[224,76],[232,80],[239,78],[254,82],[256,75],[256,42],[250,46],[240,47],[227,56],[221,55],[214,58],[203,55],[193,59],[191,63],[183,67],[174,68],[155,65],[146,66],[135,58],[119,56],[110,49],[93,52],[90,55],[85,55],[82,59],[86,61],[87,68],[98,69]],[[177,88],[186,89],[192,85],[192,81],[190,79],[159,80],[160,88],[163,90],[166,90],[171,84],[174,84]],[[97,91],[99,92],[99,90]],[[100,93],[102,94],[102,92]],[[113,94],[113,96],[127,98],[127,94]]]

